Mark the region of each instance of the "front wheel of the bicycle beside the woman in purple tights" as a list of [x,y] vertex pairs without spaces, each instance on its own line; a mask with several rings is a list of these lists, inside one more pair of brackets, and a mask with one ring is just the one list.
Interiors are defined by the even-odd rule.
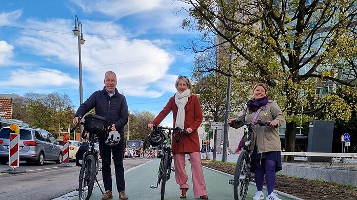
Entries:
[[238,157],[234,172],[234,200],[245,199],[250,178],[250,156],[248,151],[243,150]]

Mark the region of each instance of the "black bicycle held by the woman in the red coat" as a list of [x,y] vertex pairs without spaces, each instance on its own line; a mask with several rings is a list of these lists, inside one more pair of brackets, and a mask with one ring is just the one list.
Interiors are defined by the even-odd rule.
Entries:
[[[156,188],[158,184],[161,185],[161,200],[164,200],[165,196],[165,186],[166,186],[166,181],[170,179],[171,171],[175,171],[173,167],[171,167],[172,163],[172,149],[171,149],[171,131],[172,131],[172,136],[175,139],[175,142],[177,143],[180,140],[181,134],[186,133],[184,129],[181,129],[180,127],[176,128],[169,128],[169,127],[154,127],[154,131],[162,131],[163,129],[166,129],[169,131],[167,137],[162,141],[160,145],[157,146],[157,149],[161,149],[161,161],[160,161],[160,166],[158,167],[157,171],[157,183],[156,186],[151,185],[150,188]],[[157,136],[158,137],[158,136]]]

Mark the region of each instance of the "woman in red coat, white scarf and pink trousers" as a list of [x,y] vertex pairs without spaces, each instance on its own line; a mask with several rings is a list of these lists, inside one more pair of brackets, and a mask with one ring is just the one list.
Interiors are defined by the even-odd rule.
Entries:
[[199,133],[197,132],[203,118],[199,98],[191,94],[191,83],[187,76],[178,76],[176,89],[175,95],[170,98],[155,119],[148,124],[148,127],[152,130],[153,126],[159,125],[172,110],[173,127],[184,128],[187,132],[187,134],[181,135],[178,143],[172,143],[176,183],[180,185],[181,189],[180,198],[186,198],[188,190],[185,161],[185,155],[188,153],[191,162],[193,196],[208,199],[201,166]]

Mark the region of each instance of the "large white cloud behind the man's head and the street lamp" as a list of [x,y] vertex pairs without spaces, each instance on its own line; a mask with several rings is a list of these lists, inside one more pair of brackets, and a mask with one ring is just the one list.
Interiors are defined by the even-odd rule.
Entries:
[[[83,85],[87,87],[87,90],[101,89],[104,73],[112,70],[117,74],[118,87],[122,86],[120,90],[126,95],[157,97],[166,91],[172,91],[172,89],[155,84],[166,75],[173,62],[169,52],[153,44],[125,41],[127,38],[123,28],[112,22],[83,21],[82,23],[83,30],[88,35],[97,34],[101,37],[124,40],[84,36],[86,42],[81,45],[81,50]],[[72,24],[73,22],[67,19],[50,19],[47,22],[32,19],[28,21],[27,26],[64,32],[63,30],[72,30]],[[36,55],[45,57],[52,63],[78,66],[78,42],[74,35],[24,31],[17,40],[17,44]],[[77,73],[74,74],[77,76]],[[57,75],[66,77],[66,74]],[[66,80],[72,83],[69,79]],[[150,84],[155,87],[149,87]],[[92,87],[93,85],[95,87]]]

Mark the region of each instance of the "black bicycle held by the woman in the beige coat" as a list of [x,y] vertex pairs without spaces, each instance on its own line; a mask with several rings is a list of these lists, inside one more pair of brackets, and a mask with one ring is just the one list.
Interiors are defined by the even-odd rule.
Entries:
[[250,151],[250,143],[252,141],[253,126],[270,126],[270,122],[257,121],[245,123],[244,121],[233,121],[230,124],[244,124],[248,131],[244,131],[244,147],[239,154],[237,164],[235,165],[234,179],[229,181],[233,185],[234,200],[245,199],[250,181],[250,161],[252,152]]

